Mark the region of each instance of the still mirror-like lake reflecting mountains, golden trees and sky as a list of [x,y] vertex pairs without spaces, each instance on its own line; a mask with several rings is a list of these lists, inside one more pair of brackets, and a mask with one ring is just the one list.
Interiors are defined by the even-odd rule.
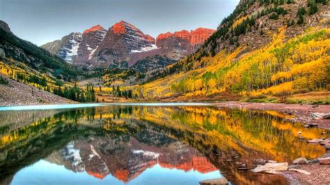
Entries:
[[[0,184],[285,184],[238,170],[253,159],[325,153],[324,130],[274,111],[212,104],[93,104],[0,108]],[[2,110],[1,110],[2,109]],[[301,131],[299,136],[298,131]]]

